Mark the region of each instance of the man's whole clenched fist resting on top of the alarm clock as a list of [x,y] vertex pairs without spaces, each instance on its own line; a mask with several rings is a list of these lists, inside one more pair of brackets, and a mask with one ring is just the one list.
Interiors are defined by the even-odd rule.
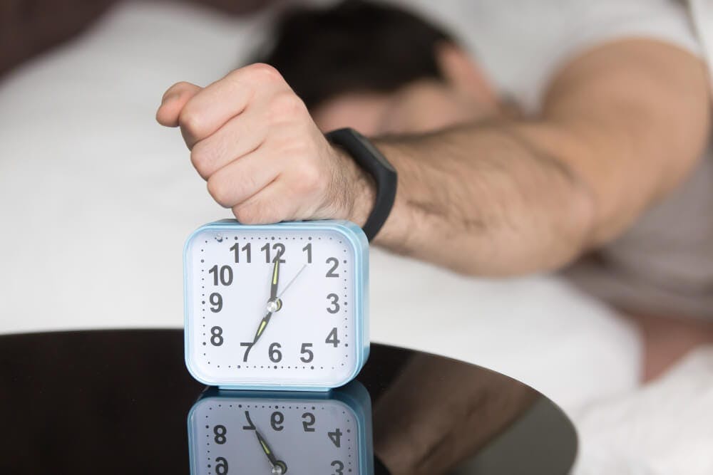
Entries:
[[279,72],[237,69],[205,88],[177,83],[156,120],[180,127],[208,192],[238,221],[350,219],[364,224],[373,184],[332,147]]

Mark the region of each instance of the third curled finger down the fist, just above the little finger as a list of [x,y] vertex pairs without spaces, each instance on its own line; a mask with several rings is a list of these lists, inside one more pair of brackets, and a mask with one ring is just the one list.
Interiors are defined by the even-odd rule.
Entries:
[[257,150],[222,167],[208,179],[210,196],[222,207],[232,208],[259,194],[279,176],[281,160]]

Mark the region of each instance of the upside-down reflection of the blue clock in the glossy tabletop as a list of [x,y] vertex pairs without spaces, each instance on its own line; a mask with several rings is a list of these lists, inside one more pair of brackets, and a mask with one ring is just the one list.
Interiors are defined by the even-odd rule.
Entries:
[[188,414],[192,475],[373,475],[371,402],[358,381],[325,392],[211,388]]

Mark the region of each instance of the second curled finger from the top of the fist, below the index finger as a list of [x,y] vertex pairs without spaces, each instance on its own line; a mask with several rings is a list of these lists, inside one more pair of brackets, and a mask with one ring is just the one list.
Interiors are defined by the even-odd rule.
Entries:
[[190,161],[201,177],[207,179],[230,162],[257,150],[267,137],[267,122],[260,120],[255,108],[234,117],[213,135],[193,145]]

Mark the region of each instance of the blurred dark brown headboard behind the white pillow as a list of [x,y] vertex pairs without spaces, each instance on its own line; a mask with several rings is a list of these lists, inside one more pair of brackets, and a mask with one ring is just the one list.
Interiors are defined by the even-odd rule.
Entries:
[[[0,76],[89,26],[121,0],[0,0]],[[145,0],[151,1],[151,0]],[[275,0],[173,0],[215,7],[240,15]]]

